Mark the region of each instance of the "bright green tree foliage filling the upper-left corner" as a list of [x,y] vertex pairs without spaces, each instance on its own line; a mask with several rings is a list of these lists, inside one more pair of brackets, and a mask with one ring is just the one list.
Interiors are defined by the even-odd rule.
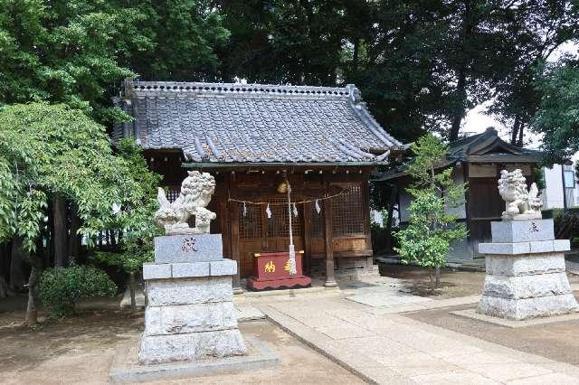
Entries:
[[119,121],[110,96],[135,76],[122,61],[154,46],[139,30],[143,16],[109,2],[0,0],[0,103],[67,103]]

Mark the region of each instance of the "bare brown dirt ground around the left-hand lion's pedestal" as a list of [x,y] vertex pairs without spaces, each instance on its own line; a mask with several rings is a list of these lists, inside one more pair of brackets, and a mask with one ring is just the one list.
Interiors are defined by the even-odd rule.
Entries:
[[[0,311],[0,383],[108,383],[117,343],[136,343],[143,329],[142,312],[132,315],[111,310],[85,311],[60,320],[46,320],[34,330],[20,326],[23,319],[21,311]],[[280,364],[259,371],[170,383],[363,383],[267,321],[242,323],[240,329],[244,335],[270,343],[280,356]]]

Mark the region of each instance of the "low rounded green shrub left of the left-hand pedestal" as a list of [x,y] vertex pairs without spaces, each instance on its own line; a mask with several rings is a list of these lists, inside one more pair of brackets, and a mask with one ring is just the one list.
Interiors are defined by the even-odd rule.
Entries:
[[44,270],[38,283],[38,296],[56,316],[74,312],[80,299],[116,293],[117,286],[107,273],[92,266],[49,268]]

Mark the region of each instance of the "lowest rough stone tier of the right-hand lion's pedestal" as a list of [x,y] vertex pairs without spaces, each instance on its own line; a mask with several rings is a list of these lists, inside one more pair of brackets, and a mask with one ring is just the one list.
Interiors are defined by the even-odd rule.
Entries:
[[512,320],[565,315],[577,310],[579,310],[579,306],[572,294],[525,299],[508,299],[483,295],[477,307],[477,313],[479,314]]

